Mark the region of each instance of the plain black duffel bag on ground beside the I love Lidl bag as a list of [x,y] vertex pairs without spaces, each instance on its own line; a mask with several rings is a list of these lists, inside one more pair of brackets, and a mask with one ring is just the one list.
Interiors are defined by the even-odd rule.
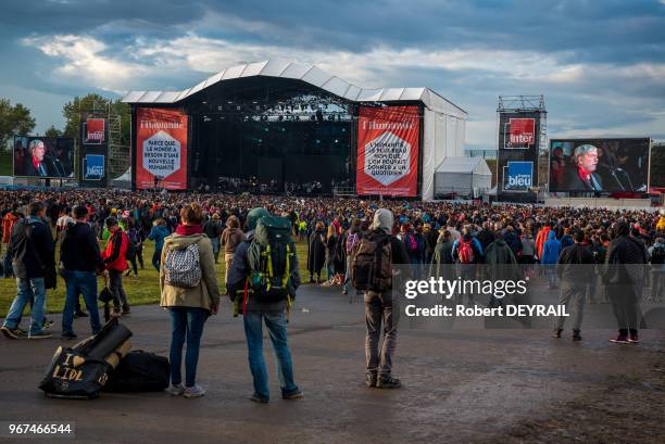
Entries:
[[168,386],[168,359],[143,351],[129,352],[109,373],[104,392],[161,392]]

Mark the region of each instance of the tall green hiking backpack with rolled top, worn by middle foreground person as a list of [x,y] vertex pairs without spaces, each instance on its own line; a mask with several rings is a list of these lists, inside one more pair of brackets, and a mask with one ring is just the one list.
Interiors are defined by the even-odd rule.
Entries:
[[278,302],[294,295],[291,284],[294,257],[291,220],[275,216],[259,219],[248,251],[251,270],[248,290],[258,301]]

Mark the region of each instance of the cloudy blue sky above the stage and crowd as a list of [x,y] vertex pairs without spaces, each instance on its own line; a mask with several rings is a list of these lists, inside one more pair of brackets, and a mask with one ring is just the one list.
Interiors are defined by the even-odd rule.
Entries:
[[312,63],[364,88],[429,87],[494,144],[497,98],[544,94],[548,135],[665,140],[665,0],[2,0],[0,97],[189,88],[240,62]]

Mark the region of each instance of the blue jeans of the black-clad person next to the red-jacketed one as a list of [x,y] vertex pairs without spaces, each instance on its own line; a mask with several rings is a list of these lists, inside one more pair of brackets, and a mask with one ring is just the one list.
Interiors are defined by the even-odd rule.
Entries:
[[90,314],[92,334],[97,334],[101,330],[101,325],[99,324],[99,309],[97,307],[97,277],[95,272],[65,270],[64,277],[67,294],[62,312],[62,332],[74,332],[74,310],[78,302],[78,295],[83,294],[86,307]]

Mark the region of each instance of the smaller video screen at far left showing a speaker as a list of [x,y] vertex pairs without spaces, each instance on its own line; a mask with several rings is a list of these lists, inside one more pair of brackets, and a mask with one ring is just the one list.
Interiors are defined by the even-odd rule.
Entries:
[[74,177],[74,139],[14,137],[14,176],[61,179]]

